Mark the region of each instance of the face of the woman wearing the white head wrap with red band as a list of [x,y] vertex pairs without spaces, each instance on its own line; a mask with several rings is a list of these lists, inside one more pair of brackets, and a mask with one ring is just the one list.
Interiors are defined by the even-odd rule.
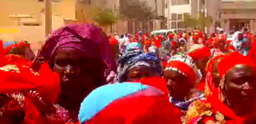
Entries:
[[176,99],[185,99],[194,85],[186,76],[175,71],[164,71],[164,77],[167,82],[167,88],[172,97]]

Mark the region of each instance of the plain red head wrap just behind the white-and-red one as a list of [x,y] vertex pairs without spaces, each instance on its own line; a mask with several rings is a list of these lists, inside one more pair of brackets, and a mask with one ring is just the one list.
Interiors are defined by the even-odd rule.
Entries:
[[189,56],[192,57],[194,61],[197,61],[203,57],[210,57],[211,50],[209,47],[198,48],[197,50],[190,52]]

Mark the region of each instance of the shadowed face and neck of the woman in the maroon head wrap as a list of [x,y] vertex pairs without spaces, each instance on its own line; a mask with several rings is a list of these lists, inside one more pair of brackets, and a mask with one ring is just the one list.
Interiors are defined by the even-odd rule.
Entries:
[[59,100],[63,107],[79,110],[84,97],[95,89],[95,66],[99,65],[99,61],[81,54],[77,49],[62,48],[56,52],[53,70],[60,74]]

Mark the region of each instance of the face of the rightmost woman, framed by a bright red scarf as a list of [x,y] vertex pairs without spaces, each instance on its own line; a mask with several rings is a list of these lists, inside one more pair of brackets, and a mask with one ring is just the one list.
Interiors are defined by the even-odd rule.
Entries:
[[224,94],[237,114],[252,110],[256,99],[255,70],[248,65],[236,65],[225,75]]

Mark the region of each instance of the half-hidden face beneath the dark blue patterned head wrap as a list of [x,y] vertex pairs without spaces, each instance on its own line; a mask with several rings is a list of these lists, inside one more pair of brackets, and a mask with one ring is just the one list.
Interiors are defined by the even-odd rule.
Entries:
[[129,70],[127,73],[127,82],[133,82],[137,79],[145,78],[145,77],[160,77],[159,72],[156,72],[154,69],[148,66],[136,66]]

